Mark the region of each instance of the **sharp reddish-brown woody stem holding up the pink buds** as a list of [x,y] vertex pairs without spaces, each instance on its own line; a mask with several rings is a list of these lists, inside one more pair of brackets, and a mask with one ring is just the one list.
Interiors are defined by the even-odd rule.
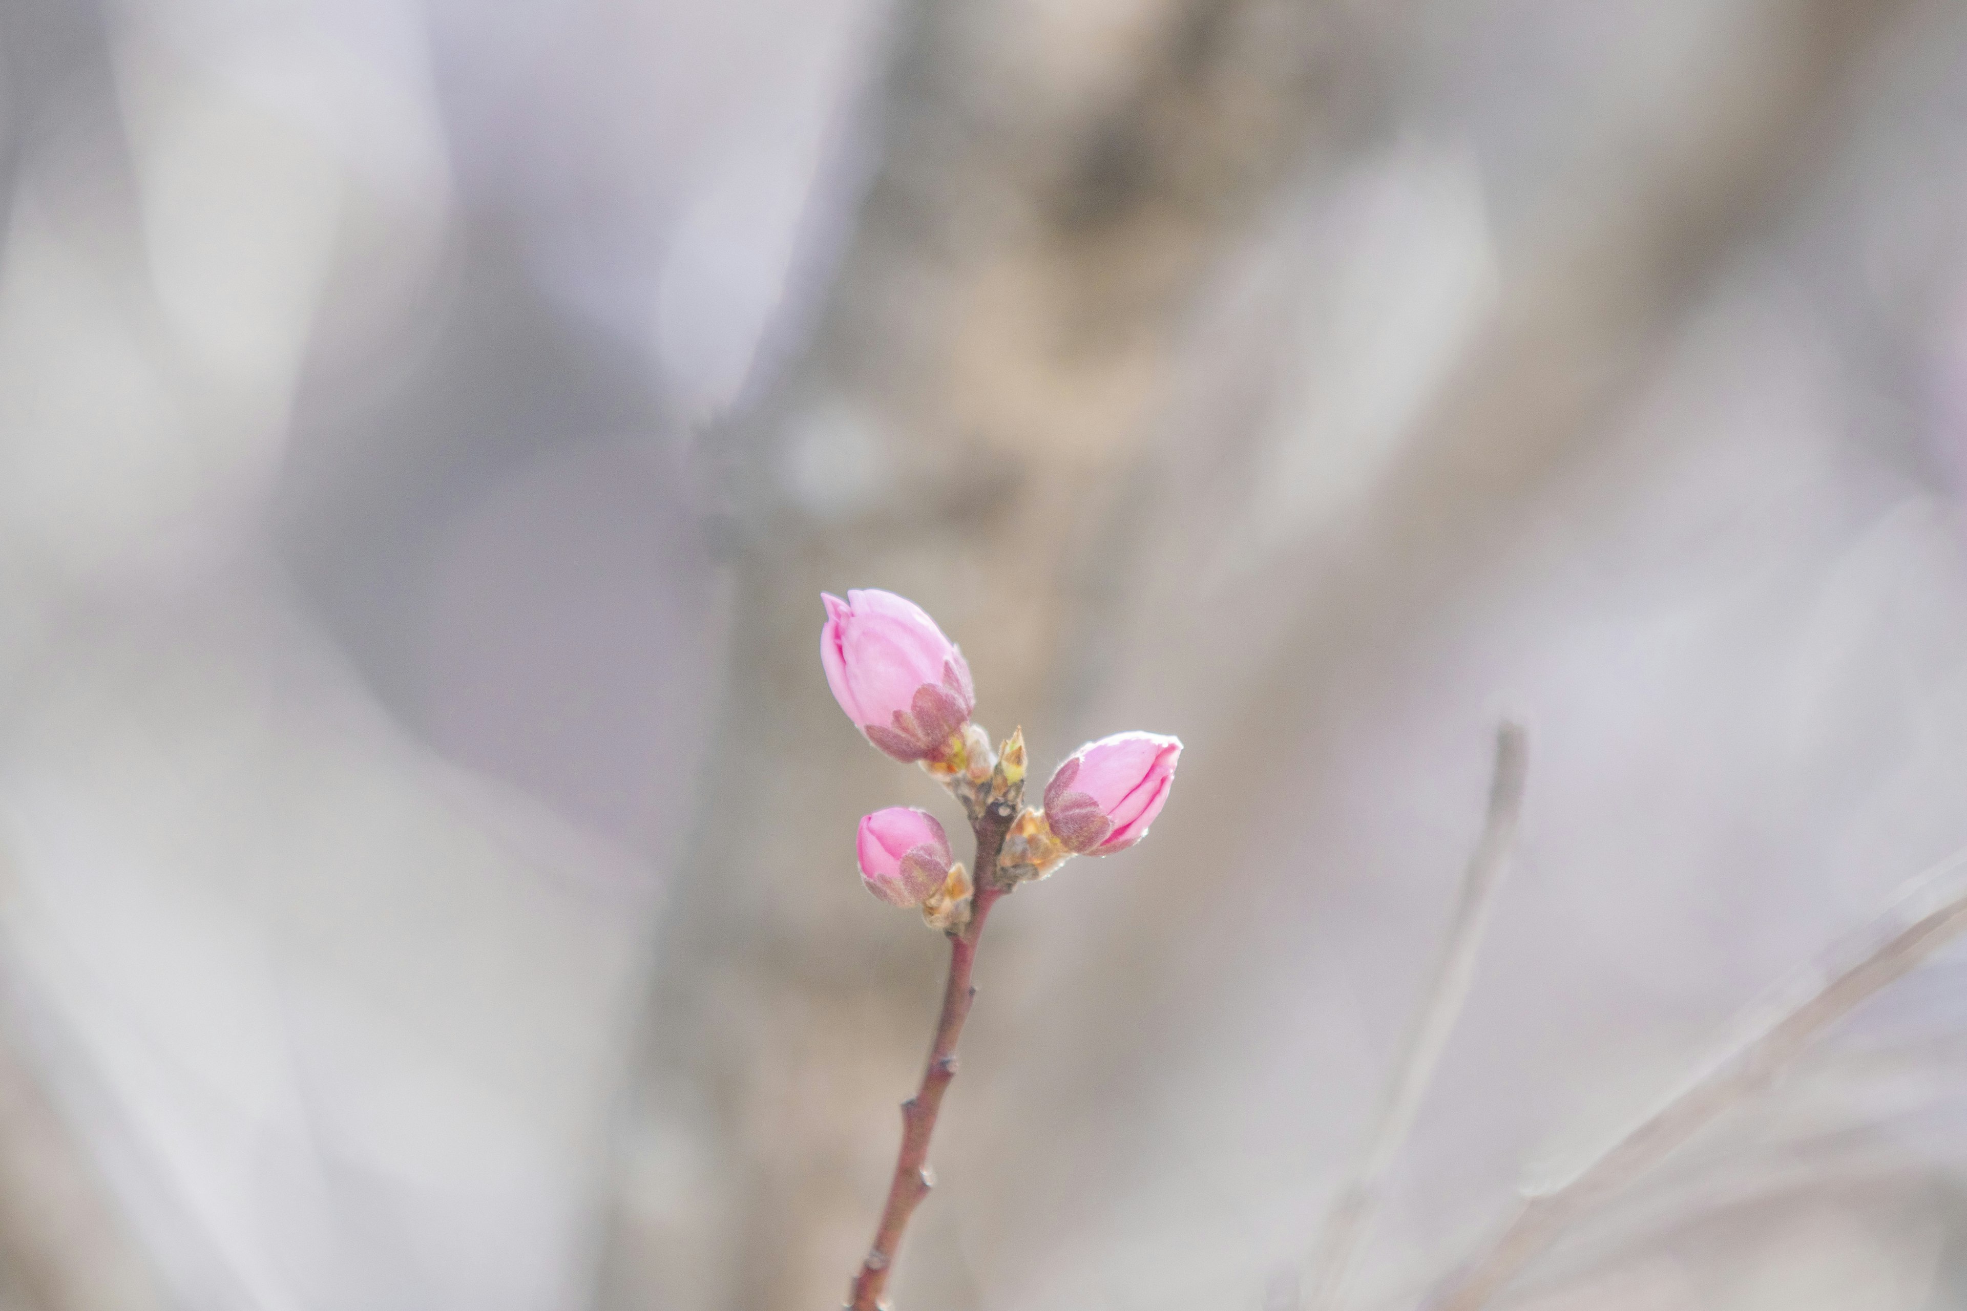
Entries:
[[928,1195],[928,1140],[936,1132],[936,1112],[942,1111],[942,1095],[956,1077],[956,1040],[964,1032],[970,1016],[970,1002],[976,998],[976,985],[970,983],[970,969],[976,965],[978,940],[984,936],[984,922],[989,908],[1009,888],[997,886],[997,853],[1003,849],[1005,833],[1017,818],[1017,806],[995,802],[982,808],[972,829],[978,839],[976,855],[976,900],[970,904],[970,922],[950,934],[950,981],[942,989],[942,1016],[936,1020],[936,1042],[928,1050],[928,1067],[923,1069],[923,1087],[915,1097],[901,1103],[901,1152],[895,1158],[895,1177],[887,1185],[887,1205],[881,1209],[881,1225],[873,1230],[873,1246],[854,1276],[848,1307],[852,1311],[877,1311],[885,1303],[881,1291],[887,1287],[889,1270],[895,1266],[895,1252],[901,1248],[901,1234],[909,1226],[915,1207]]

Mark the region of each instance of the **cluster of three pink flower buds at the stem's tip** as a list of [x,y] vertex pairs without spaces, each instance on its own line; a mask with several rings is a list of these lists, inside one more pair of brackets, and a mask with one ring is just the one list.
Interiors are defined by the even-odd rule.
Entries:
[[[985,816],[1003,816],[993,829],[1003,833],[993,886],[1044,879],[1074,855],[1111,855],[1147,837],[1168,800],[1180,739],[1115,733],[1086,743],[1052,774],[1043,808],[1023,808],[1025,737],[1015,731],[991,751],[989,735],[972,721],[970,664],[936,621],[893,592],[820,599],[820,666],[848,719],[877,749],[919,763],[954,792],[980,839]],[[869,892],[893,906],[919,906],[932,928],[964,928],[974,886],[934,816],[907,806],[877,810],[860,824],[858,851]]]

